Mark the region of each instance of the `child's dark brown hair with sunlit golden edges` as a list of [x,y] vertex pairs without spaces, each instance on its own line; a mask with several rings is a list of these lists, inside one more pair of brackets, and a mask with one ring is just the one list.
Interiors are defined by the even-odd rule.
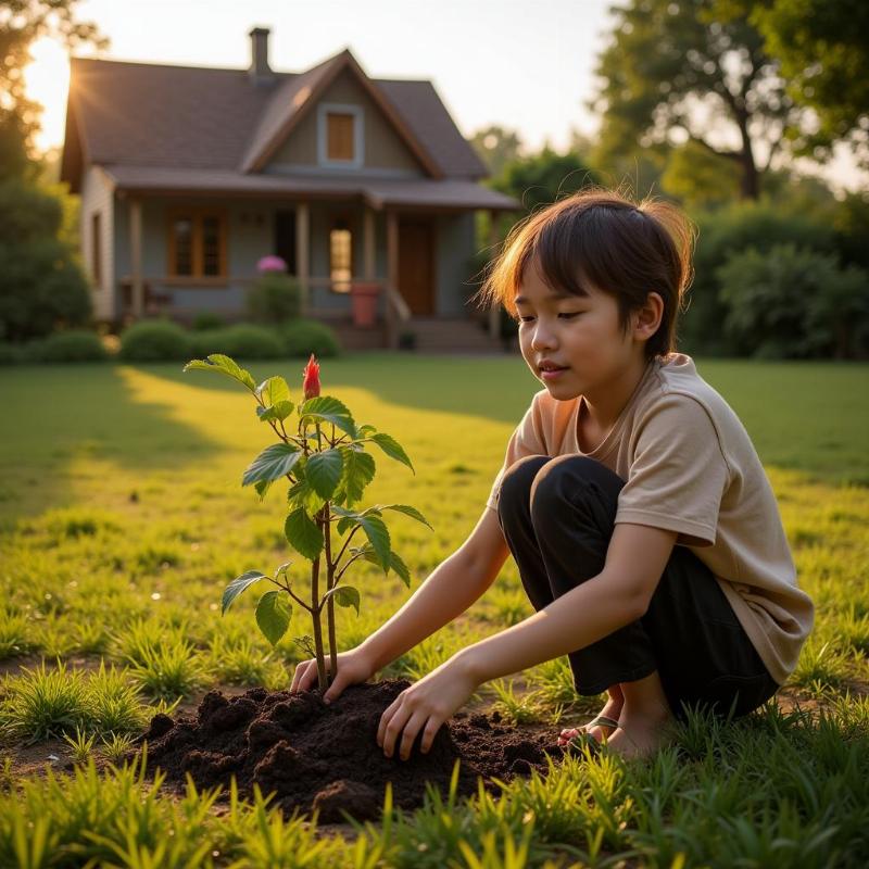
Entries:
[[664,356],[676,349],[676,320],[693,277],[695,237],[693,224],[675,205],[653,199],[634,204],[621,193],[588,188],[516,224],[478,294],[489,305],[503,304],[516,318],[513,298],[536,257],[553,289],[588,295],[584,287],[590,284],[613,295],[625,333],[630,314],[645,304],[650,292],[657,292],[664,313],[645,355]]

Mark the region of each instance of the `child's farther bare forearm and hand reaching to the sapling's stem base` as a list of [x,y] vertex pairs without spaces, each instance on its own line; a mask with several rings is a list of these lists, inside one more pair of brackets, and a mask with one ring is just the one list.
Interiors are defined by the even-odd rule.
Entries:
[[[508,554],[498,515],[487,507],[468,539],[429,574],[404,606],[364,642],[339,655],[338,676],[324,697],[335,700],[349,684],[364,682],[462,615],[492,584]],[[312,688],[316,678],[316,662],[302,662],[291,690]]]

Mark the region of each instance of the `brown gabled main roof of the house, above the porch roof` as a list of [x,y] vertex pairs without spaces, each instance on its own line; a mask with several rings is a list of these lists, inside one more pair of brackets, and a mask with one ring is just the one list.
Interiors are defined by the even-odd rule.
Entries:
[[61,179],[87,164],[255,171],[351,70],[432,177],[488,173],[428,80],[368,78],[349,50],[254,86],[247,70],[72,59]]

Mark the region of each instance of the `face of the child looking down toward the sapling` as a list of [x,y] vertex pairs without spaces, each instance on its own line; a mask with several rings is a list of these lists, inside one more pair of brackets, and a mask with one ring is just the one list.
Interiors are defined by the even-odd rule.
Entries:
[[[593,287],[588,290],[588,297],[554,295],[531,262],[516,295],[525,300],[516,303],[522,357],[562,401],[593,394],[635,364],[637,348],[630,330],[626,335],[619,328],[616,300]],[[544,361],[564,370],[545,375]]]

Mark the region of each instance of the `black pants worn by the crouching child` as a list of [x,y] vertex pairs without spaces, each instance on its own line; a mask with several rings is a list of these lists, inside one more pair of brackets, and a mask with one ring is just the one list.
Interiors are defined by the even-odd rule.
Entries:
[[[603,570],[624,484],[580,455],[526,456],[504,475],[499,520],[534,609]],[[738,717],[779,688],[708,567],[684,546],[673,547],[642,618],[568,659],[585,695],[657,670],[682,721],[682,704]]]

